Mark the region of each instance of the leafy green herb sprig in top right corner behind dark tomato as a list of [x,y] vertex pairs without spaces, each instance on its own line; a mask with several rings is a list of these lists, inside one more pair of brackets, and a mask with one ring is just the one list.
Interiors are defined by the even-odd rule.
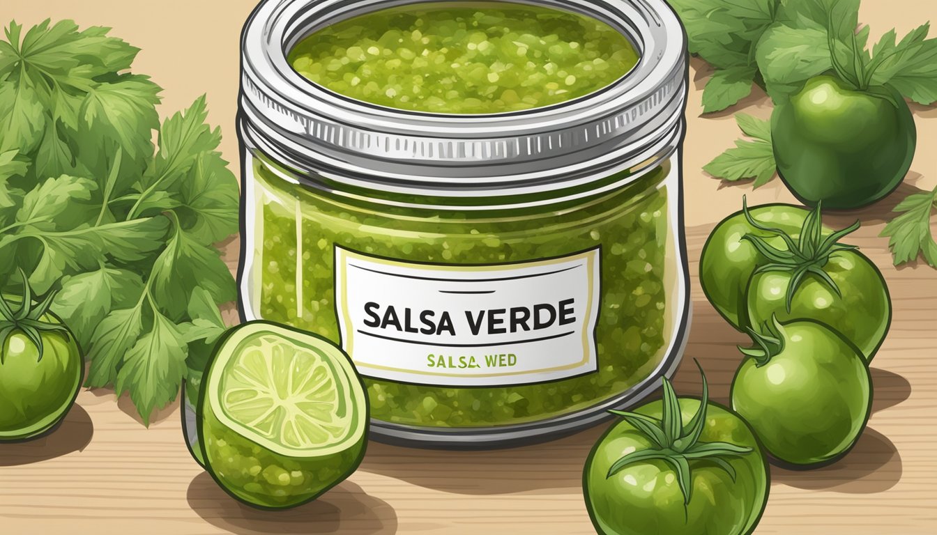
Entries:
[[904,97],[937,101],[937,38],[930,23],[898,40],[894,29],[868,50],[859,0],[672,0],[690,52],[715,68],[703,92],[704,112],[721,111],[751,94],[776,101],[802,82],[834,70],[863,89],[889,83]]

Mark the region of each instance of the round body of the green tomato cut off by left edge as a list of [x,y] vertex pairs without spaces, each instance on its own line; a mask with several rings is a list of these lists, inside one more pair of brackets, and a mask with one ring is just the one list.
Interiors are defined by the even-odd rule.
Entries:
[[0,442],[37,438],[51,430],[82,385],[84,361],[75,337],[52,313],[39,321],[55,327],[37,331],[41,352],[25,331],[0,334]]

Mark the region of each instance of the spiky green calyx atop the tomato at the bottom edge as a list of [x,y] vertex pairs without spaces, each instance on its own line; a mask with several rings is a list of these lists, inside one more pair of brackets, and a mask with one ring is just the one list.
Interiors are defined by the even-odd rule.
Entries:
[[683,494],[684,507],[690,504],[692,493],[692,479],[690,461],[706,459],[719,468],[725,470],[732,481],[736,481],[736,469],[724,457],[744,455],[753,450],[746,446],[738,446],[729,442],[704,442],[700,440],[703,428],[706,425],[706,407],[709,401],[709,391],[706,385],[706,374],[703,367],[695,359],[693,362],[700,369],[703,377],[703,395],[700,398],[700,407],[693,414],[692,419],[683,425],[680,413],[680,403],[677,393],[667,378],[663,378],[662,415],[660,419],[629,412],[624,410],[609,410],[612,414],[622,417],[625,422],[647,437],[654,445],[647,450],[637,450],[619,458],[608,469],[606,479],[614,476],[623,468],[633,464],[660,460],[667,463],[677,473],[677,483]]

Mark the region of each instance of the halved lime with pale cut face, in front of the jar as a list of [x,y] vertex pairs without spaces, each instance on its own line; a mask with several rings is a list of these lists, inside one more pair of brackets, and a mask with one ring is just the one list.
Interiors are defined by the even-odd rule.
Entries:
[[286,508],[319,497],[358,468],[367,397],[332,342],[253,321],[218,342],[200,396],[206,468],[232,497]]

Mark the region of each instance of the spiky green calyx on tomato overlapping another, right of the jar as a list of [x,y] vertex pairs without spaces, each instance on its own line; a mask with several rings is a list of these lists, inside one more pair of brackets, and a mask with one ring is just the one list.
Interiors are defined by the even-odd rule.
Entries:
[[800,234],[793,238],[790,234],[781,229],[774,229],[759,223],[749,213],[749,207],[745,198],[742,198],[742,213],[749,224],[755,229],[762,230],[775,237],[781,238],[786,249],[781,249],[767,243],[765,238],[751,232],[742,236],[742,239],[751,242],[755,249],[767,260],[763,266],[754,271],[754,274],[766,272],[790,272],[791,280],[787,286],[787,299],[785,305],[787,312],[791,311],[791,303],[794,300],[794,294],[800,283],[808,274],[816,275],[836,294],[842,297],[840,287],[826,273],[824,266],[829,258],[840,251],[851,251],[858,247],[855,245],[840,244],[840,239],[855,232],[859,228],[859,222],[855,221],[845,229],[837,230],[824,238],[823,221],[821,218],[821,209],[823,202],[817,202],[816,208],[804,219],[804,224],[800,228]]

